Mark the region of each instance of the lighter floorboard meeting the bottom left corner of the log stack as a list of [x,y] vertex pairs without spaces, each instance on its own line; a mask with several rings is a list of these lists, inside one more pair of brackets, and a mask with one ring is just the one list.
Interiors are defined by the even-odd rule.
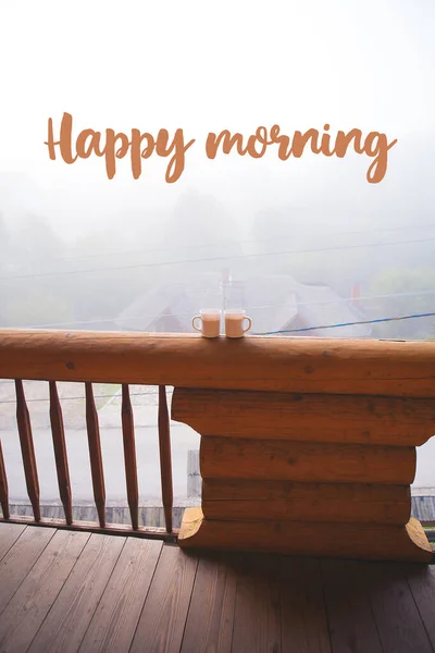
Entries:
[[163,546],[130,653],[178,653],[197,565],[196,556]]

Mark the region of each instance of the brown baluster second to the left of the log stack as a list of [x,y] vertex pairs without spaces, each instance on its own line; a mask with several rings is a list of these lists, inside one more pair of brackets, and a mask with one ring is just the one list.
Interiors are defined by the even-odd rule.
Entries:
[[139,528],[139,492],[137,489],[135,426],[128,385],[125,383],[122,386],[121,418],[123,426],[125,480],[127,484],[129,514],[132,516],[132,527],[134,530],[137,530]]

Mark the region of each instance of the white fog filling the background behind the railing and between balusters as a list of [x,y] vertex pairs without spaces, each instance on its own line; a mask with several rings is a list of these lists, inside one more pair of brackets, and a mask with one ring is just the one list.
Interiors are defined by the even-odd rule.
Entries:
[[[1,3],[0,329],[189,332],[191,317],[215,306],[245,308],[253,333],[433,338],[435,317],[421,316],[435,313],[434,27],[431,0]],[[48,121],[58,137],[65,112],[74,139],[90,128],[182,128],[195,144],[173,184],[157,156],[138,180],[117,160],[109,181],[102,158],[50,160]],[[371,159],[351,147],[341,159],[309,148],[286,161],[272,148],[259,159],[235,148],[206,156],[210,132],[247,138],[275,124],[288,135],[359,128],[397,144],[377,184],[366,181]],[[85,501],[77,385],[60,394],[73,496]],[[95,392],[104,465],[113,463],[108,501],[120,505],[120,386]],[[47,387],[29,382],[26,394],[50,501]],[[134,396],[140,497],[159,502],[156,389]],[[20,500],[10,382],[0,402]],[[186,488],[198,436],[172,426],[185,505],[198,501]],[[430,458],[419,459],[423,488],[434,484]]]

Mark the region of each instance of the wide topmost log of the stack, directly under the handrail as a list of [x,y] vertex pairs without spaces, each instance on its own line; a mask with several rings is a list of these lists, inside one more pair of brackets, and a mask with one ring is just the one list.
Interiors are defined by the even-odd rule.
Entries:
[[201,435],[418,446],[434,433],[432,399],[176,387],[172,419]]

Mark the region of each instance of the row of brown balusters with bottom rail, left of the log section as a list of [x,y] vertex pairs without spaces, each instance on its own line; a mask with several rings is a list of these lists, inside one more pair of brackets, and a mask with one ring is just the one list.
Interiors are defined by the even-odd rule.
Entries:
[[[50,421],[53,440],[54,460],[57,468],[59,495],[63,505],[65,515],[65,525],[79,528],[80,522],[73,523],[73,501],[70,482],[70,470],[65,445],[65,435],[63,427],[63,416],[61,402],[59,399],[55,381],[49,381],[50,389]],[[34,520],[40,525],[64,526],[63,522],[57,523],[55,520],[41,519],[41,508],[39,501],[39,480],[38,469],[35,457],[30,417],[24,394],[23,380],[15,380],[16,393],[16,421],[20,436],[24,476],[26,481],[27,494],[32,504]],[[89,463],[92,479],[94,500],[98,515],[98,525],[102,531],[112,532],[122,530],[122,526],[108,526],[105,522],[105,483],[104,470],[101,456],[100,429],[98,422],[98,412],[94,399],[92,384],[85,383],[86,397],[86,426],[89,446]],[[172,491],[172,465],[171,465],[171,439],[170,439],[170,417],[166,403],[166,389],[159,386],[159,445],[160,445],[160,465],[161,465],[161,488],[165,518],[165,533],[175,535],[172,528],[173,491]],[[160,529],[139,528],[139,494],[137,482],[135,429],[129,390],[127,384],[122,386],[122,432],[124,444],[124,464],[127,501],[130,514],[130,526],[137,534],[163,537]],[[0,502],[4,519],[21,520],[10,515],[9,507],[8,477],[4,466],[4,459],[0,441]],[[82,523],[82,526],[84,526]],[[86,523],[85,528],[89,528]]]

